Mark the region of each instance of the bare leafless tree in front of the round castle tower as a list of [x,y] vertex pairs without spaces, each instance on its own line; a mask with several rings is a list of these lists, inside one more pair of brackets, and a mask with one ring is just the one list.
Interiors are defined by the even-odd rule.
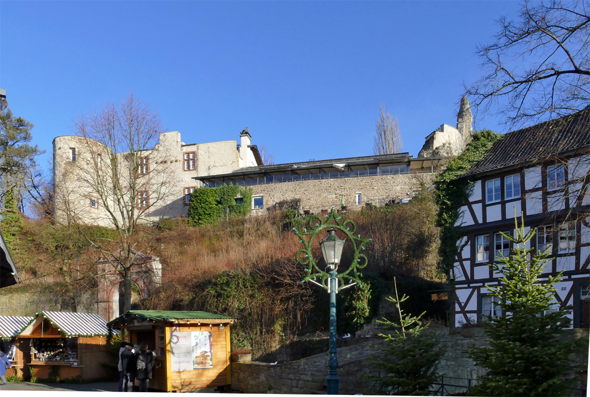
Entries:
[[[132,267],[149,266],[143,257],[155,246],[155,228],[142,225],[165,216],[169,198],[181,186],[172,168],[175,154],[157,144],[160,120],[133,95],[79,117],[74,130],[75,161],[54,160],[63,167],[54,181],[55,220],[76,227],[120,273],[126,311]],[[115,233],[89,233],[87,224]],[[159,277],[160,269],[152,270]]]

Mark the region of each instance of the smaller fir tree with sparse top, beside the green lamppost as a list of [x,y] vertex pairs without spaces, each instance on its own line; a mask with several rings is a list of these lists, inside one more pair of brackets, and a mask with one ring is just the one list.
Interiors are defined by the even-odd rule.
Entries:
[[438,374],[438,362],[442,356],[440,340],[435,333],[428,332],[427,327],[421,322],[421,317],[426,312],[415,317],[404,313],[399,305],[407,300],[408,296],[404,294],[399,299],[395,277],[394,286],[395,299],[393,297],[386,299],[395,303],[398,308],[399,325],[387,319],[379,321],[385,327],[394,327],[395,330],[391,335],[379,334],[385,338],[386,345],[382,349],[385,356],[375,363],[387,375],[375,380],[381,392],[388,395],[430,395],[432,383],[440,378]]

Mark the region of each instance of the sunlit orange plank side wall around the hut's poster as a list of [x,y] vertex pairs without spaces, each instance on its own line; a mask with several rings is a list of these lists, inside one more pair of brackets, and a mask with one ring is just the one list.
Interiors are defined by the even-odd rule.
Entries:
[[173,391],[198,391],[215,386],[228,385],[230,378],[229,326],[225,329],[215,327],[181,326],[179,332],[211,331],[213,342],[213,368],[172,372]]

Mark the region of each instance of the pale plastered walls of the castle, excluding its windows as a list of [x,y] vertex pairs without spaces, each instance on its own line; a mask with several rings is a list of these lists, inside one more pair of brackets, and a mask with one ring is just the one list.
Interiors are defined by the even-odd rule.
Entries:
[[[248,139],[247,144],[249,143]],[[76,161],[71,159],[72,148],[76,149]],[[245,145],[245,149],[246,153],[242,154],[245,154],[243,157],[246,164],[256,166],[251,148]],[[91,206],[91,197],[97,196],[96,186],[109,184],[109,153],[109,148],[88,138],[61,136],[54,139],[53,174],[57,221],[67,223],[68,217],[77,217],[83,223],[113,227],[112,215],[107,211],[107,207],[116,209],[115,203],[109,201],[112,197],[107,198],[106,203],[99,200],[96,208]],[[100,168],[96,163],[99,154]],[[116,154],[120,164],[126,163],[126,154]],[[195,160],[194,167],[189,167],[188,170],[184,163],[186,154],[193,154]],[[186,215],[185,188],[199,187],[199,182],[193,177],[231,173],[240,168],[241,163],[237,141],[185,144],[178,131],[160,133],[159,143],[153,150],[145,151],[145,156],[149,158],[149,173],[139,178],[139,183],[142,184],[142,190],[149,191],[150,208],[142,217],[146,222]],[[126,172],[121,171],[120,177],[124,180]],[[128,204],[135,205],[136,200],[137,197],[127,197]],[[119,211],[113,213],[122,221]]]

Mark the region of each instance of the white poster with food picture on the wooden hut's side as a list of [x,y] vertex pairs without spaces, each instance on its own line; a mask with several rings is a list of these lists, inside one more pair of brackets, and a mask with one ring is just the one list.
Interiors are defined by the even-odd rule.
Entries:
[[211,331],[172,332],[172,372],[213,368]]

